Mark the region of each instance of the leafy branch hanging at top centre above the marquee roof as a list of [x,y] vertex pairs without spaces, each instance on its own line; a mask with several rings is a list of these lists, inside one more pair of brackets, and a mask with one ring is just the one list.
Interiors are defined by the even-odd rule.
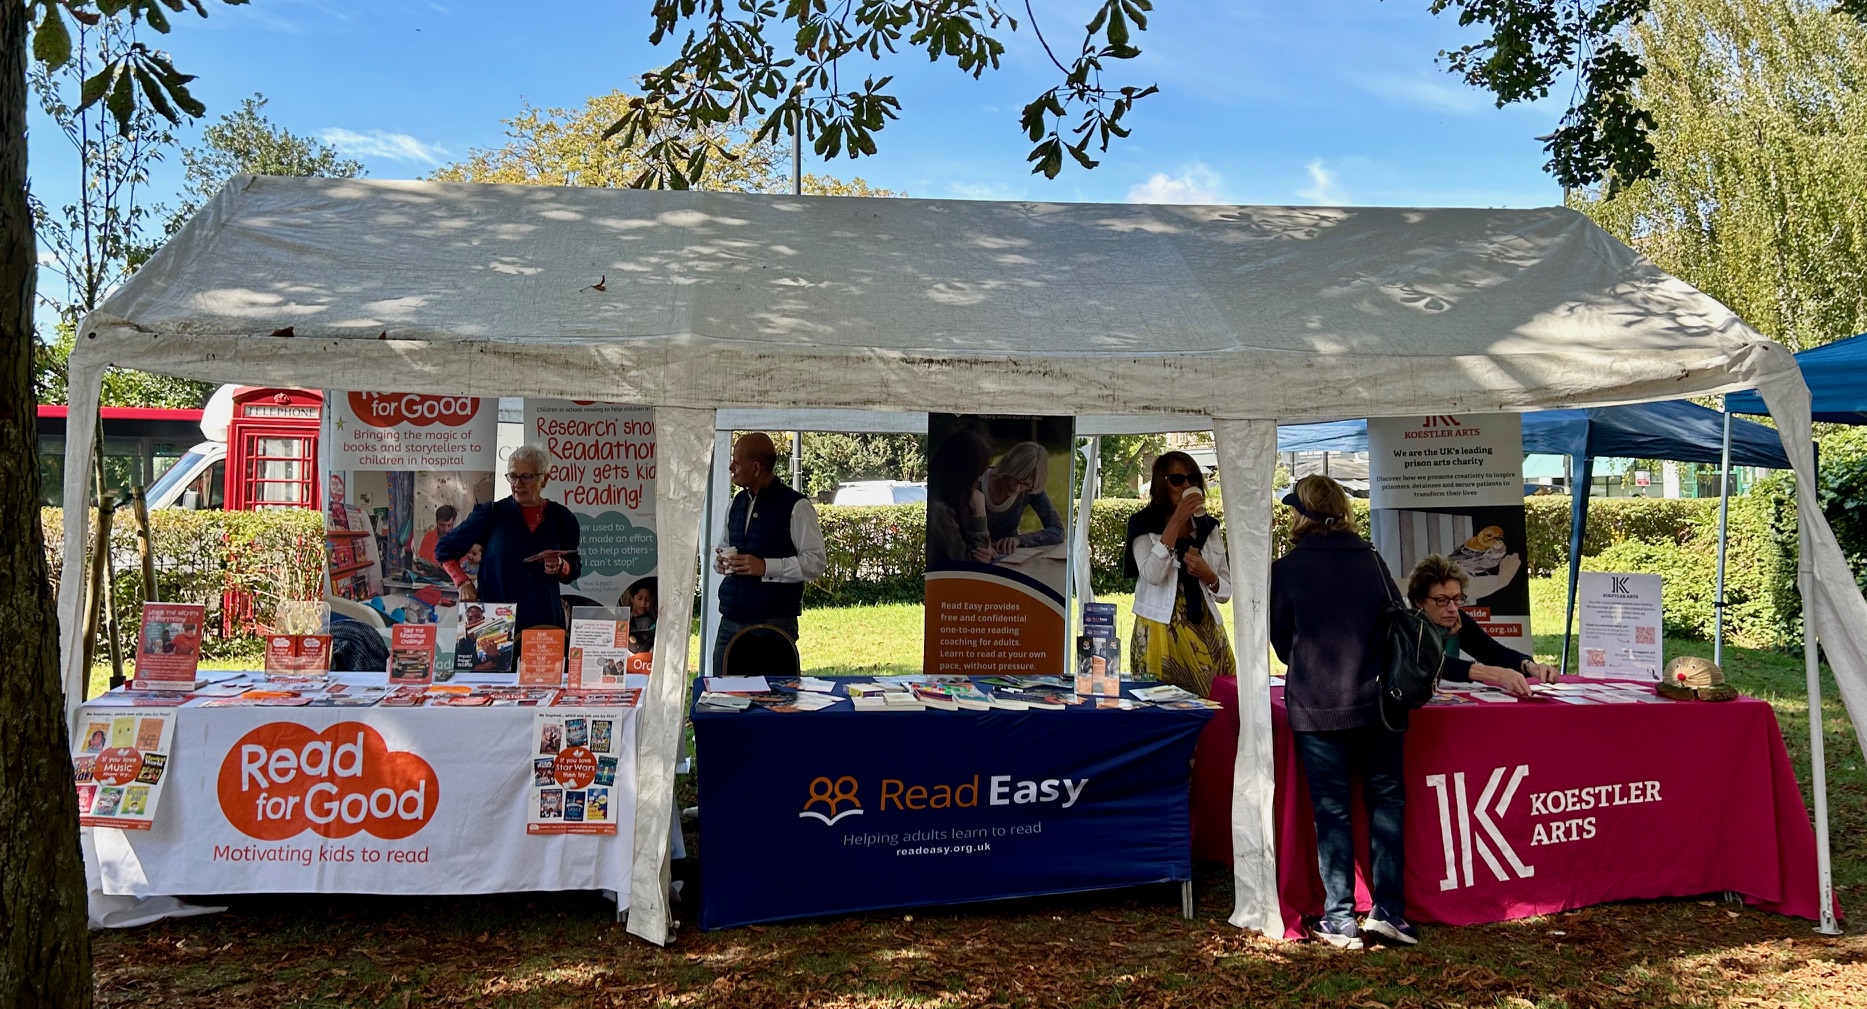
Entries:
[[[1122,118],[1156,88],[1103,84],[1102,73],[1115,60],[1141,56],[1131,39],[1146,30],[1150,9],[1152,0],[1105,0],[1064,62],[1023,4],[1025,24],[1064,75],[1023,110],[1032,172],[1057,178],[1064,153],[1092,168],[1090,144],[1105,151],[1111,138],[1128,136]],[[999,0],[784,0],[782,7],[773,0],[655,0],[653,21],[652,43],[683,28],[685,39],[668,65],[642,75],[642,95],[605,136],[622,135],[624,146],[644,151],[648,168],[633,185],[667,189],[687,189],[709,161],[730,157],[708,140],[724,127],[752,127],[754,144],[801,133],[825,159],[874,155],[876,135],[900,118],[902,103],[891,93],[892,77],[846,86],[846,58],[879,62],[905,45],[978,78],[999,69],[1001,36],[1019,28]]]

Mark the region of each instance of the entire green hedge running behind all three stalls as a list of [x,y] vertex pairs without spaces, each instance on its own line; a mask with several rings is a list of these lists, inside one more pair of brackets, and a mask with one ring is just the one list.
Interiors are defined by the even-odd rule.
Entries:
[[[1088,551],[1096,592],[1126,592],[1122,549],[1128,519],[1144,503],[1105,497],[1090,510]],[[1565,572],[1568,564],[1568,499],[1525,499],[1529,529],[1527,561],[1535,576]],[[1355,501],[1355,521],[1367,531],[1367,501]],[[1212,512],[1223,519],[1223,506]],[[868,602],[919,602],[926,557],[922,504],[821,506],[829,570],[807,590],[810,605]],[[63,546],[62,512],[43,510],[47,559],[58,577]],[[1273,538],[1290,536],[1290,510],[1277,508]],[[162,598],[202,602],[218,611],[224,592],[237,590],[254,613],[209,620],[226,624],[222,637],[207,641],[209,656],[254,654],[254,624],[271,620],[282,598],[316,594],[323,572],[321,516],[306,510],[280,512],[183,512],[151,514]],[[1675,633],[1708,637],[1712,630],[1712,583],[1718,544],[1718,501],[1671,501],[1649,497],[1598,499],[1589,506],[1585,566],[1593,570],[1650,572],[1667,577],[1667,622]],[[118,559],[118,620],[123,641],[138,626],[142,568],[136,561],[129,512],[112,527]],[[1757,648],[1792,648],[1802,641],[1796,594],[1796,510],[1787,480],[1764,480],[1744,497],[1731,499],[1731,561],[1727,566],[1731,641]],[[103,652],[99,652],[103,654]]]

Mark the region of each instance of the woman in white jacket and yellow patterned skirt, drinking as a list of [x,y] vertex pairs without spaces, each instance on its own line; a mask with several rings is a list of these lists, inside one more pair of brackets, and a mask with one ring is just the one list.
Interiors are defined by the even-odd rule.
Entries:
[[1232,598],[1225,534],[1206,514],[1206,480],[1186,452],[1154,460],[1148,504],[1128,519],[1124,574],[1135,579],[1130,665],[1139,678],[1212,693],[1214,676],[1234,676],[1232,643],[1219,604]]

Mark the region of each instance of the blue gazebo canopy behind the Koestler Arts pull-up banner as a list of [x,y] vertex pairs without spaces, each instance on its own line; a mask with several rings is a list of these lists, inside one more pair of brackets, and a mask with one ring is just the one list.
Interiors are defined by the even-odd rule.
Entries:
[[[1279,452],[1367,452],[1367,420],[1294,424],[1277,430]],[[1723,452],[1723,415],[1688,402],[1523,415],[1523,450],[1587,460],[1673,460],[1716,463]],[[1789,469],[1772,428],[1731,422],[1731,463]]]

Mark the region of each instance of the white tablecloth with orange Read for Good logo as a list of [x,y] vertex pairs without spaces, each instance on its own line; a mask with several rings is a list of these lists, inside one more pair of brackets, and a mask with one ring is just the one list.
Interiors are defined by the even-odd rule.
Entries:
[[586,714],[609,721],[612,830],[566,835],[526,831],[534,708],[175,714],[162,820],[97,831],[105,893],[616,889],[627,899],[631,708]]

